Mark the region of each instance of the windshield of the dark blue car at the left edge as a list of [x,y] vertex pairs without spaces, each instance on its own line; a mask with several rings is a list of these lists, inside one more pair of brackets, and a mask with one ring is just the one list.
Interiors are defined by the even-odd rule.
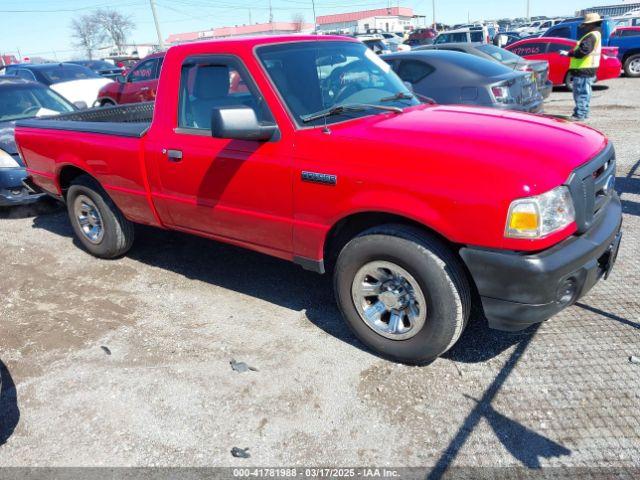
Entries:
[[0,122],[72,112],[74,108],[57,93],[38,85],[0,88]]

